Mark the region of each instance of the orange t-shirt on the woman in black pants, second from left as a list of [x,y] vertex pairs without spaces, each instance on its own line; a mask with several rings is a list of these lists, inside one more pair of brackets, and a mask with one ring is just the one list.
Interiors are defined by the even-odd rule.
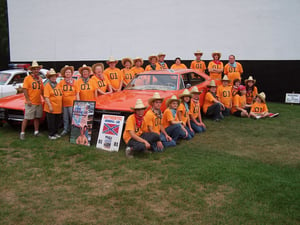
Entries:
[[[50,83],[47,83],[44,90],[44,97],[49,98],[49,101],[53,108],[53,114],[60,114],[62,113],[62,91],[60,85],[56,85],[55,88],[52,88]],[[44,111],[50,112],[48,104],[45,102],[44,104]]]

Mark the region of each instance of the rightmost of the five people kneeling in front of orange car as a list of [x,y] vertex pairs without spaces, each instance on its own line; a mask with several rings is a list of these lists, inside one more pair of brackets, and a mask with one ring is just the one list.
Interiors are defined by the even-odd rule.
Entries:
[[199,102],[199,95],[201,93],[202,92],[199,91],[199,89],[196,86],[194,86],[191,90],[192,99],[191,99],[189,116],[191,121],[191,127],[196,133],[201,133],[206,130],[206,126],[202,122],[201,108]]

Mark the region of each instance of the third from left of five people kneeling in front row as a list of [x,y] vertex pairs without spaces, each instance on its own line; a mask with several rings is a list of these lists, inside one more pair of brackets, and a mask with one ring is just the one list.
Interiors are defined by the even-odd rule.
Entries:
[[162,125],[167,134],[177,143],[177,140],[188,136],[187,130],[183,126],[183,122],[179,121],[177,116],[177,108],[180,104],[180,99],[173,95],[166,101],[167,108],[162,117]]

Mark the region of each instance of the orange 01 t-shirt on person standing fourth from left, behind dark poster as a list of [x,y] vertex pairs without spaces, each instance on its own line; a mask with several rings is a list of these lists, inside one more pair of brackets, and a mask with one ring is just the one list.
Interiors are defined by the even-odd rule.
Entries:
[[84,83],[83,79],[80,78],[75,82],[76,93],[79,93],[81,101],[95,101],[95,90],[96,87],[92,82],[92,79],[89,79],[87,83]]

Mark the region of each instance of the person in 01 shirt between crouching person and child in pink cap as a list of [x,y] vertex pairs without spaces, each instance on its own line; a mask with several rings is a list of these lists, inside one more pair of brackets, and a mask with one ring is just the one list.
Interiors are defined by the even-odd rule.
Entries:
[[217,97],[218,100],[225,106],[223,115],[229,116],[232,107],[231,86],[229,86],[230,80],[228,79],[227,75],[224,75],[221,81],[222,84],[217,89]]

